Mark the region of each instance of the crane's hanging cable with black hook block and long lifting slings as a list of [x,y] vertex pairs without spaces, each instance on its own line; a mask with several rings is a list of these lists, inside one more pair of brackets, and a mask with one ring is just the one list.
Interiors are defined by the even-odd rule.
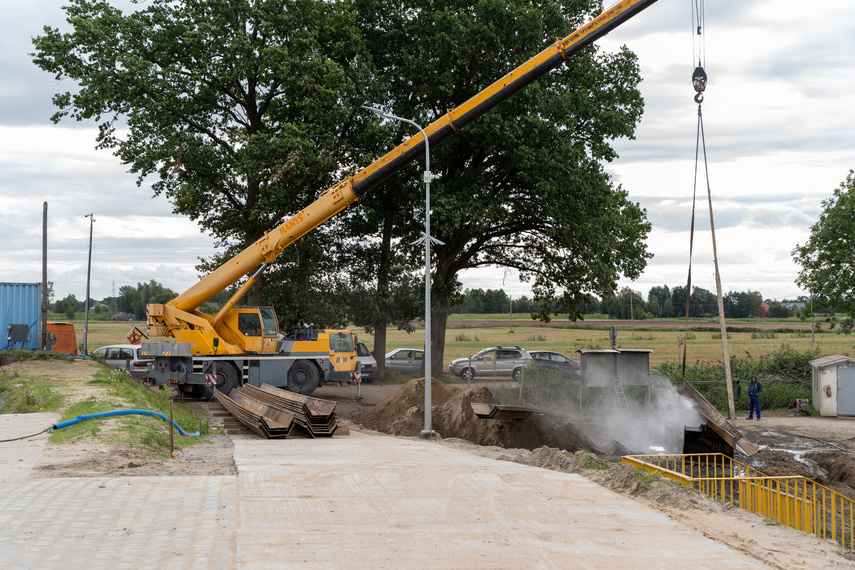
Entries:
[[[725,372],[725,385],[727,387],[727,400],[728,400],[728,408],[730,412],[730,422],[734,427],[736,426],[736,409],[734,407],[733,402],[733,385],[731,383],[731,370],[730,370],[730,356],[727,350],[727,325],[724,319],[724,300],[721,293],[721,273],[719,272],[718,267],[718,251],[716,248],[715,241],[715,220],[713,218],[713,208],[712,208],[712,190],[710,189],[710,176],[709,176],[709,163],[707,161],[707,145],[704,137],[704,120],[703,120],[703,112],[702,112],[702,103],[704,101],[704,91],[707,87],[707,73],[704,70],[704,38],[703,38],[703,0],[692,0],[692,22],[694,33],[696,36],[696,40],[694,42],[694,53],[692,54],[693,60],[697,61],[697,67],[692,73],[692,87],[695,90],[695,103],[698,104],[698,128],[695,142],[695,180],[694,180],[694,189],[692,193],[692,223],[691,229],[689,233],[689,272],[688,278],[686,281],[686,332],[688,333],[689,328],[689,316],[690,316],[690,299],[692,292],[692,248],[694,244],[694,233],[695,233],[695,201],[697,197],[697,185],[698,185],[698,169],[700,164],[700,153],[703,151],[704,158],[704,174],[705,174],[705,182],[707,186],[707,201],[709,203],[709,212],[710,212],[710,232],[712,235],[712,248],[713,248],[713,264],[715,266],[715,284],[716,284],[716,297],[718,300],[718,313],[719,313],[719,324],[721,328],[721,346],[722,346],[722,361],[724,362],[724,372]],[[694,63],[694,61],[693,61]],[[688,337],[688,334],[686,334]],[[683,362],[682,362],[682,376],[683,380],[686,379],[686,360],[687,360],[687,352],[688,347],[684,347],[683,350]]]

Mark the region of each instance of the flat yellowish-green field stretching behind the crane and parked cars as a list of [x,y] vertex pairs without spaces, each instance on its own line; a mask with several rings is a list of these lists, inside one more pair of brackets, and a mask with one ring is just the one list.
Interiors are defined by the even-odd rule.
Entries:
[[[72,321],[78,344],[83,341],[83,321]],[[127,342],[125,336],[132,327],[145,331],[145,323],[90,321],[87,344],[90,351],[107,344]],[[526,315],[515,315],[513,330],[508,315],[451,315],[445,336],[444,361],[469,356],[487,346],[521,346],[527,350],[554,350],[573,356],[577,350],[607,349],[609,327],[617,328],[617,347],[651,350],[650,367],[663,362],[677,362],[679,339],[686,339],[687,362],[721,362],[722,341],[719,323],[715,320],[649,320],[615,321],[592,319],[571,323],[556,318],[550,323],[532,321]],[[742,319],[728,321],[728,353],[738,358],[756,358],[774,352],[782,345],[798,351],[818,346],[818,356],[855,354],[855,336],[823,331],[811,339],[810,323],[798,319]],[[361,340],[373,346],[373,338],[362,329],[355,329]],[[168,340],[168,339],[152,339]],[[813,342],[813,344],[812,344]],[[390,329],[386,350],[424,345],[424,327],[408,334]]]

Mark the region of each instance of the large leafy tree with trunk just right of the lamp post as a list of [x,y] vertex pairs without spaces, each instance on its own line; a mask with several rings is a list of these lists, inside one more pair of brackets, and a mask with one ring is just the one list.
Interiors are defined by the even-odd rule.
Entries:
[[[406,10],[392,0],[354,4],[386,82],[386,96],[376,102],[420,124],[601,8],[590,0],[418,0]],[[620,275],[634,278],[644,268],[646,214],[603,168],[616,157],[611,141],[633,136],[643,107],[639,80],[628,50],[586,48],[431,149],[439,175],[431,186],[432,233],[445,243],[434,248],[434,374],[461,271],[514,268],[542,301],[540,318],[551,311],[575,319],[586,293],[613,295]],[[421,170],[408,169],[413,178]],[[423,223],[420,215],[411,218],[407,240]]]

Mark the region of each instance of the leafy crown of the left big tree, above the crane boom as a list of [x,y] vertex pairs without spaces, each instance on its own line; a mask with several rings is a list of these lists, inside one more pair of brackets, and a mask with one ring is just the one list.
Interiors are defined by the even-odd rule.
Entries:
[[[347,2],[151,0],[123,14],[68,0],[35,63],[74,90],[54,103],[98,124],[139,182],[227,251],[296,213],[352,165],[368,67]],[[358,119],[356,119],[358,120]],[[261,290],[250,293],[260,304]]]

